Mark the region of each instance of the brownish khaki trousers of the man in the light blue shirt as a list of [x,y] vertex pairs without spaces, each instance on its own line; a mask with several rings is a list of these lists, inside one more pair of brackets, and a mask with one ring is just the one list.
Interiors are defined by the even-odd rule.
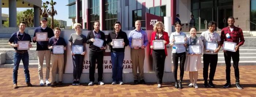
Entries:
[[[144,49],[131,49],[131,59],[132,59],[132,73],[134,80],[144,79],[144,59],[145,59],[145,50]],[[137,68],[139,67],[139,76],[137,74]]]

